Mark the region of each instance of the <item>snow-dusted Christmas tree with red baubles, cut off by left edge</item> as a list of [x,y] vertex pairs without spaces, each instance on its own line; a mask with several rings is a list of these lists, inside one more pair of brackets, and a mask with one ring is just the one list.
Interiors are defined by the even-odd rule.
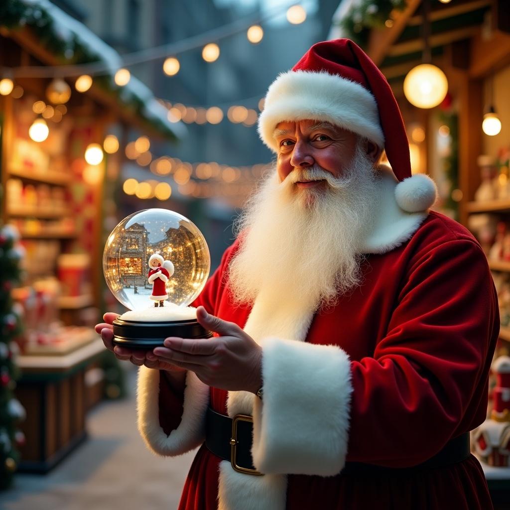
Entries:
[[24,435],[17,428],[25,410],[14,398],[17,370],[15,338],[21,333],[22,308],[13,303],[12,288],[20,282],[23,248],[11,225],[0,229],[0,490],[10,486],[19,462],[17,446]]

